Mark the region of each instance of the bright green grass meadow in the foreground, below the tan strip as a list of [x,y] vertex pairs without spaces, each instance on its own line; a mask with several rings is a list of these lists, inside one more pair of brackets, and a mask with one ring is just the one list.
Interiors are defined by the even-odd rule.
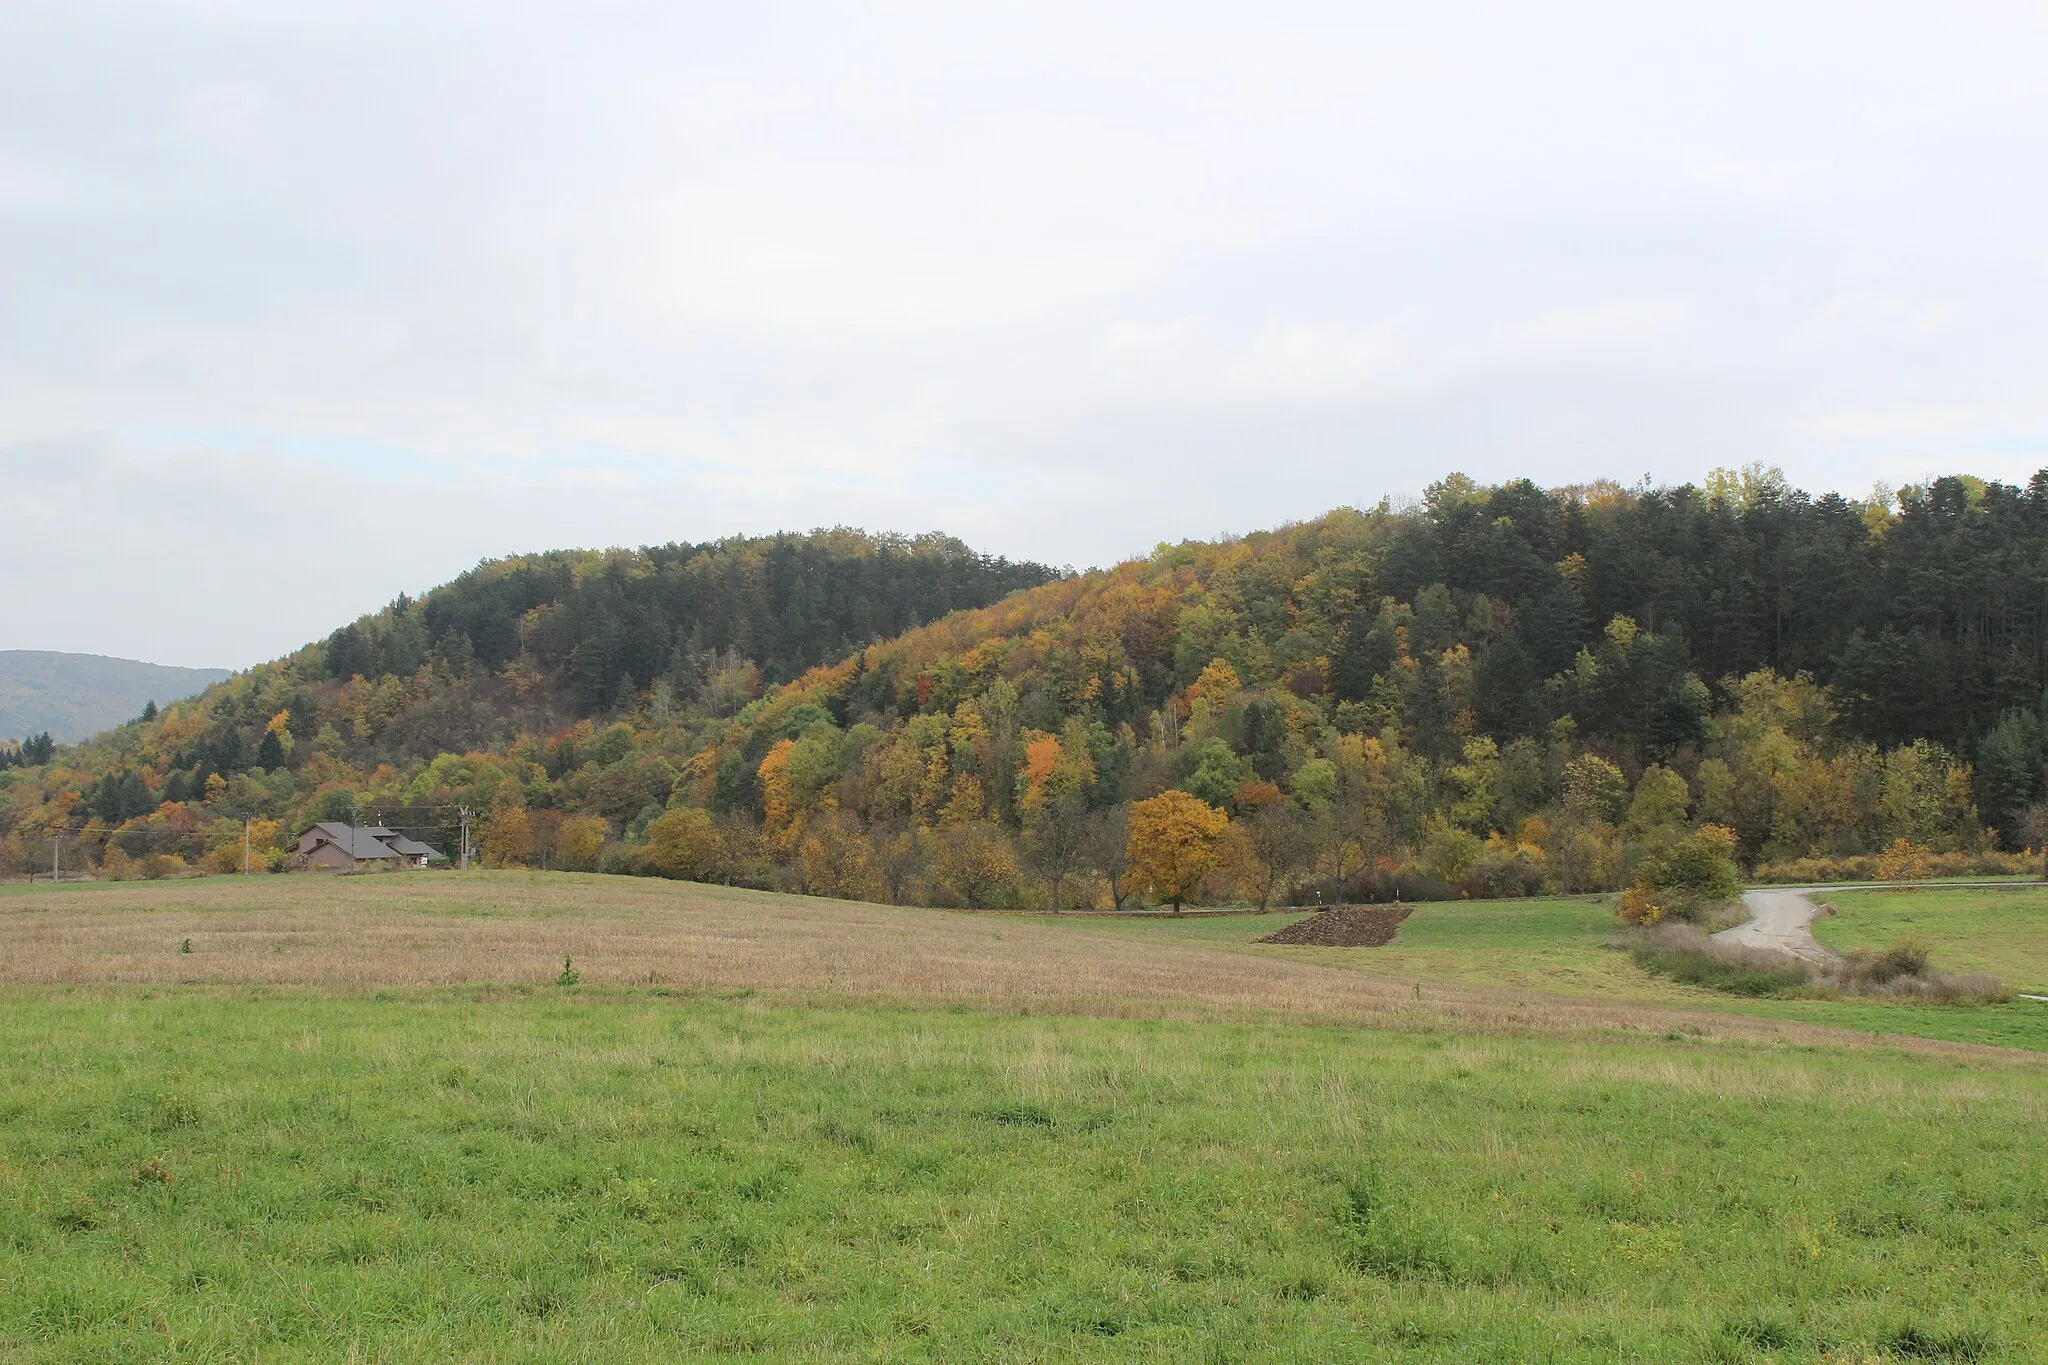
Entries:
[[0,999],[10,1359],[2048,1359],[2032,1066],[655,990]]

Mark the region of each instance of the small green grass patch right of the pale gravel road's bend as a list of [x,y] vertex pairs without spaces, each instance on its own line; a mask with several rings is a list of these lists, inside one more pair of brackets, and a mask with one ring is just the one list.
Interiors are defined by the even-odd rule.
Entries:
[[1991,972],[2015,990],[2048,995],[2048,886],[2013,890],[1847,890],[1812,931],[1835,952],[1888,948],[1919,935],[1935,966]]

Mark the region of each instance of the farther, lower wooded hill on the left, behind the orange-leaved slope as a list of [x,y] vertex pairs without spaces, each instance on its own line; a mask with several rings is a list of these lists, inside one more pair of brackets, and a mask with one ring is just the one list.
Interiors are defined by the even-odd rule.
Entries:
[[[952,536],[848,528],[487,561],[68,751],[66,772],[90,778],[68,819],[213,804],[209,786],[250,774],[295,774],[299,794],[309,772],[346,786],[344,774],[506,751],[643,702],[727,716],[819,661],[1053,577]],[[342,765],[309,769],[315,753]],[[23,755],[0,753],[10,763]],[[303,814],[303,802],[250,804]]]

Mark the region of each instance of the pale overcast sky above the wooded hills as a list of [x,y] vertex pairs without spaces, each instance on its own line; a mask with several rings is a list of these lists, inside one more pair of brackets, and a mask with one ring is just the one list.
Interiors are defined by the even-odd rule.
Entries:
[[0,0],[0,649],[2048,465],[2048,6]]

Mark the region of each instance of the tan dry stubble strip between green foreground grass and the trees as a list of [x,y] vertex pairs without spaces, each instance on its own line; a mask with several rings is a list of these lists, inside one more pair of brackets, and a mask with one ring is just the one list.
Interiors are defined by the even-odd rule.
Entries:
[[[190,943],[190,952],[182,945]],[[1001,915],[565,874],[252,878],[0,896],[0,984],[680,986],[1139,1017],[1870,1046],[1712,1011],[1393,980]],[[2034,1054],[1886,1038],[1944,1056]]]

